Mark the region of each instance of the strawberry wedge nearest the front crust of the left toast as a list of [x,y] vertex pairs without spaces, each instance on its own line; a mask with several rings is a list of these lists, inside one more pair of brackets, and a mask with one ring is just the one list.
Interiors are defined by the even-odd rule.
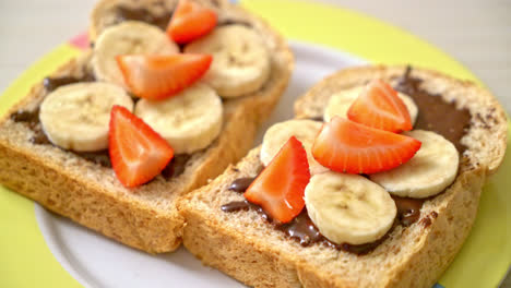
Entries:
[[140,118],[121,106],[110,112],[109,153],[114,171],[128,188],[156,177],[174,157],[174,149]]

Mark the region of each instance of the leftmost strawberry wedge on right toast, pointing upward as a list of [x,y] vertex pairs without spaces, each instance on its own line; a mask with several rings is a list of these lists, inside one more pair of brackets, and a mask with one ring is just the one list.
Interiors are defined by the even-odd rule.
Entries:
[[260,205],[274,220],[288,223],[305,206],[304,193],[309,180],[307,153],[292,136],[247,189],[245,197]]

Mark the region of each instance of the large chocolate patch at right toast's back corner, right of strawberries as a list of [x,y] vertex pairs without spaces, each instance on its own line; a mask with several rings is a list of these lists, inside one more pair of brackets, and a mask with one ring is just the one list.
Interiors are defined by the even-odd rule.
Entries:
[[455,101],[447,103],[440,95],[423,89],[423,80],[411,74],[412,68],[407,67],[395,89],[412,97],[419,109],[414,129],[437,132],[463,154],[466,147],[460,141],[471,124],[471,112],[467,109],[457,109]]

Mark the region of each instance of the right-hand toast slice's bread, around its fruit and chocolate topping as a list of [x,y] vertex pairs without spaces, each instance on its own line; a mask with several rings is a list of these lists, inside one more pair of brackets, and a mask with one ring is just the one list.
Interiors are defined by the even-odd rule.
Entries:
[[[296,101],[296,116],[322,118],[334,92],[378,77],[395,85],[404,73],[404,67],[384,65],[337,72]],[[467,109],[471,123],[461,140],[466,149],[456,179],[424,203],[416,223],[395,226],[375,250],[357,255],[322,243],[302,247],[254,209],[225,213],[222,205],[243,200],[228,190],[233,181],[255,177],[261,169],[260,148],[254,148],[183,197],[185,247],[204,264],[253,287],[431,287],[462,247],[485,179],[503,159],[507,118],[495,97],[473,83],[421,69],[409,75],[421,80],[421,89]]]

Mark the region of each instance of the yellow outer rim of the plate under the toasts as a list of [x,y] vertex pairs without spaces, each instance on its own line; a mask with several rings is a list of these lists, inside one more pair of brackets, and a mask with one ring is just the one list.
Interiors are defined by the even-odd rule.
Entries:
[[[378,20],[330,5],[290,0],[246,1],[286,37],[337,48],[375,63],[411,63],[480,83],[459,62],[419,38]],[[0,98],[0,113],[29,87],[80,53],[56,48],[25,71]],[[444,287],[496,287],[511,264],[511,159],[485,185],[473,231],[440,279]],[[0,187],[0,286],[81,287],[57,262],[37,227],[34,204]]]

